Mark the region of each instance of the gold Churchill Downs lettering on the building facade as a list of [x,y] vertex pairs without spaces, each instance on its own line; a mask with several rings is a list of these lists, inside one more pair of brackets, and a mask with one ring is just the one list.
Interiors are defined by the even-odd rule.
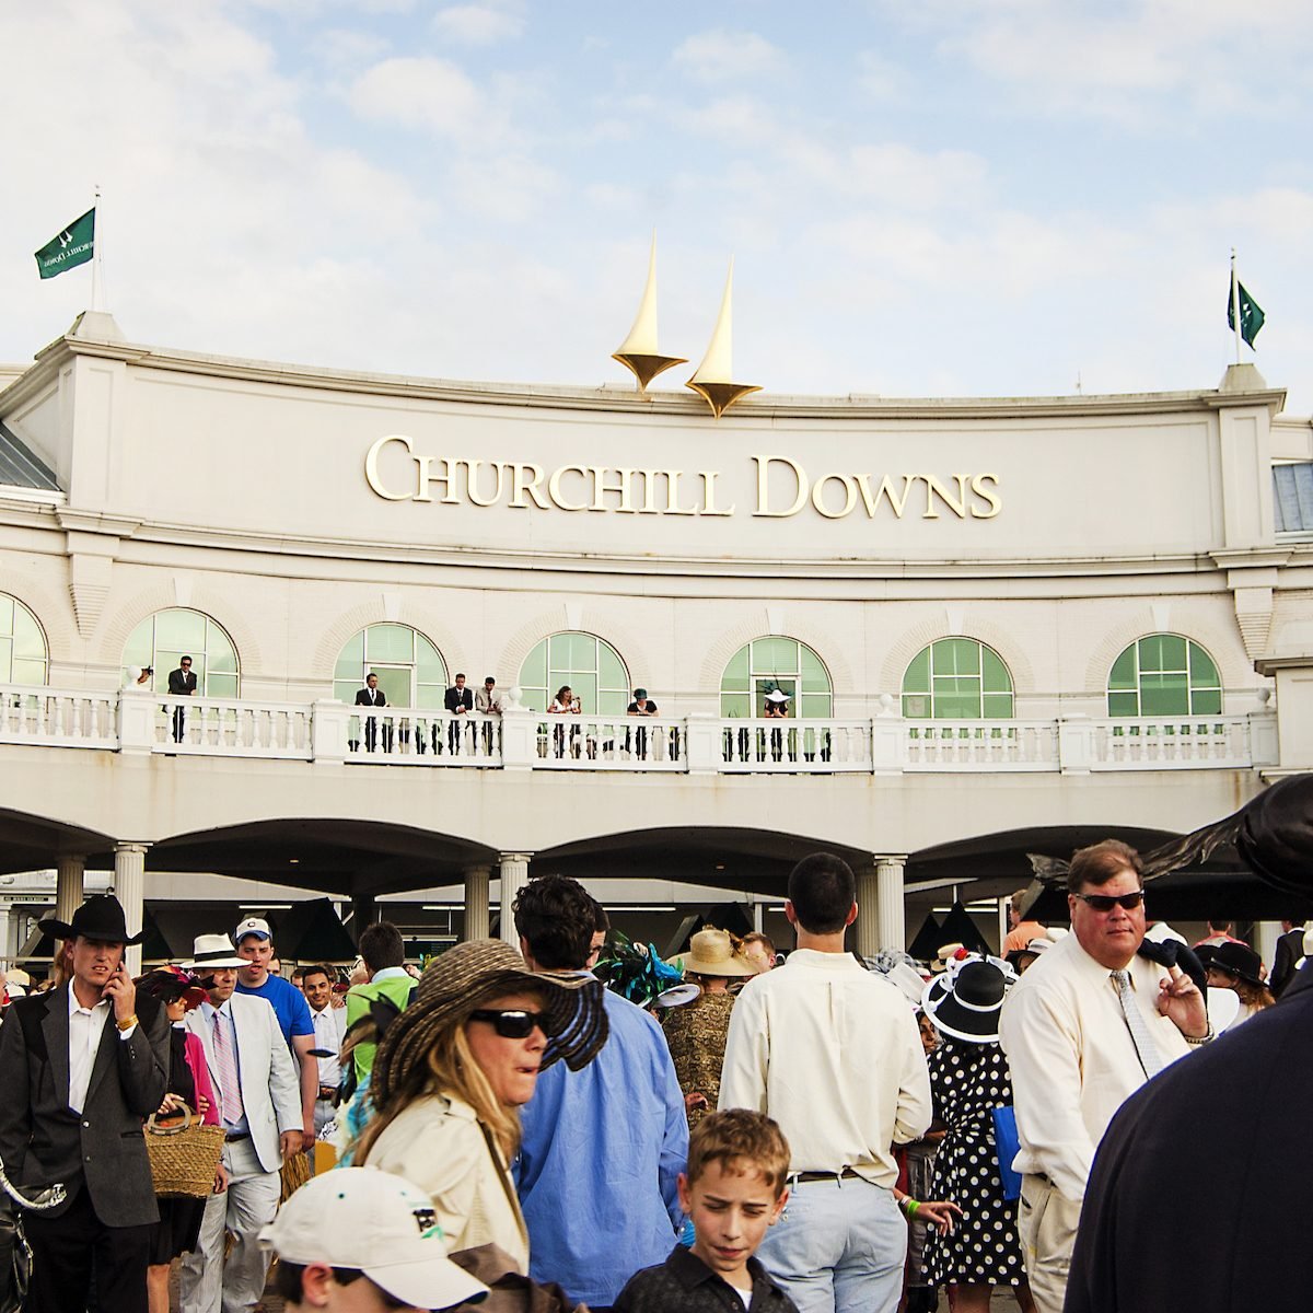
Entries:
[[[997,474],[872,474],[825,470],[813,477],[790,456],[752,456],[752,516],[789,520],[807,507],[823,520],[993,520],[1003,508]],[[383,469],[386,466],[386,470]],[[720,504],[718,470],[561,465],[427,456],[404,433],[379,437],[365,453],[365,482],[385,502],[506,506],[512,511],[731,516]]]

